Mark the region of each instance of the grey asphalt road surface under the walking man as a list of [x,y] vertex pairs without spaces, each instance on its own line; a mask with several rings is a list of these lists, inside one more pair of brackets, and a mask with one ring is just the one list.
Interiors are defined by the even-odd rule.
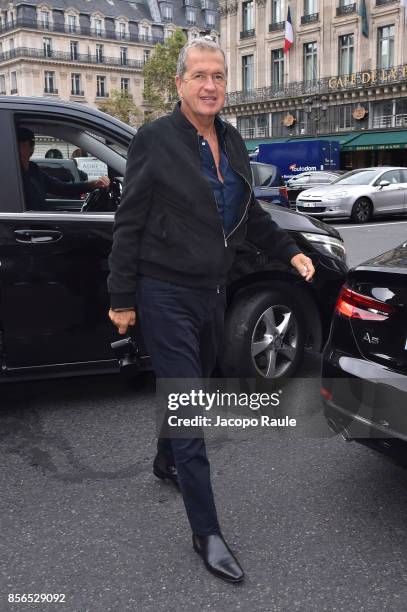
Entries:
[[[407,234],[400,223],[343,225],[352,264]],[[308,357],[283,390],[300,435],[210,439],[221,524],[246,571],[239,586],[204,570],[179,494],[151,474],[151,380],[2,387],[0,611],[404,612],[407,471],[330,435],[318,370]],[[8,603],[8,593],[65,603]]]

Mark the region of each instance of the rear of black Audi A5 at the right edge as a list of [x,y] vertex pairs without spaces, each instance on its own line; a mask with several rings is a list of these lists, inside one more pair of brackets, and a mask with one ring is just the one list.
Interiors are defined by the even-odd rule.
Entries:
[[349,272],[321,392],[335,432],[407,460],[407,242]]

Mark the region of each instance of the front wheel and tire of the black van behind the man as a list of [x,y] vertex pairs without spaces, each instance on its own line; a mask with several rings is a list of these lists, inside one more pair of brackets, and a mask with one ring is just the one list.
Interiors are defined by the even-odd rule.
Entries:
[[306,324],[284,289],[243,295],[229,309],[220,359],[224,376],[281,381],[301,363]]

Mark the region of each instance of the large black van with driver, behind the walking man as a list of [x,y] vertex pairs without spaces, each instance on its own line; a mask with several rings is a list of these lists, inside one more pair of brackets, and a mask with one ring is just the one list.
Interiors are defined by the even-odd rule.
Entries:
[[[16,126],[86,149],[108,166],[109,192],[93,191],[80,211],[62,199],[47,211],[26,210]],[[107,317],[114,208],[134,130],[81,104],[6,96],[0,97],[0,127],[10,152],[0,166],[0,380],[150,368],[138,327],[123,339]],[[220,360],[229,376],[289,376],[305,347],[321,350],[347,270],[333,227],[264,206],[317,272],[306,283],[248,243],[237,254]]]

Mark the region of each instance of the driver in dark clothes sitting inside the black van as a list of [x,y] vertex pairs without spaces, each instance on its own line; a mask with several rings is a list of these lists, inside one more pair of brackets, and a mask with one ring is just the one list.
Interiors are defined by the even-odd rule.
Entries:
[[30,161],[35,147],[34,133],[28,128],[17,128],[18,151],[24,185],[25,205],[27,210],[48,210],[46,195],[52,193],[61,196],[79,197],[82,193],[103,189],[110,186],[107,176],[94,181],[67,183],[49,176]]

